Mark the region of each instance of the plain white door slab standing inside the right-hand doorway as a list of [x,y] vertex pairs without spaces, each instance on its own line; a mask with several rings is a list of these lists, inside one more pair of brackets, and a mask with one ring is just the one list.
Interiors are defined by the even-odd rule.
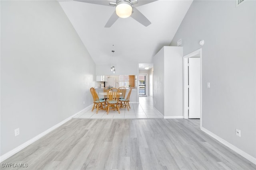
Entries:
[[200,118],[200,58],[188,58],[188,118]]

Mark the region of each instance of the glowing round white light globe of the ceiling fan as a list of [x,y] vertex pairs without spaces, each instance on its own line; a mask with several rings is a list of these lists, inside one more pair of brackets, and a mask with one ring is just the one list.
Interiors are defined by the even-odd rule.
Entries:
[[128,18],[132,14],[132,6],[129,2],[122,1],[116,5],[116,15],[120,18]]

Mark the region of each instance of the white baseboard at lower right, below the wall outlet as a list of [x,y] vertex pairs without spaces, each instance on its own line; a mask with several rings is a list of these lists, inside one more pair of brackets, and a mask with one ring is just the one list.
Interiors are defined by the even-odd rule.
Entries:
[[211,137],[213,137],[214,139],[216,139],[217,141],[219,141],[220,143],[222,143],[223,145],[225,145],[226,147],[229,147],[230,149],[234,150],[236,153],[240,154],[241,156],[243,156],[244,158],[246,158],[247,160],[251,161],[252,163],[256,164],[256,158],[254,158],[253,156],[249,155],[248,153],[244,152],[243,150],[235,147],[234,145],[232,145],[231,143],[228,143],[227,141],[225,141],[224,139],[222,139],[221,137],[218,137],[217,135],[215,135],[214,133],[212,133],[211,131],[208,131],[207,129],[205,129],[204,127],[201,127],[201,130],[204,131],[205,133],[207,133],[208,135],[210,135]]

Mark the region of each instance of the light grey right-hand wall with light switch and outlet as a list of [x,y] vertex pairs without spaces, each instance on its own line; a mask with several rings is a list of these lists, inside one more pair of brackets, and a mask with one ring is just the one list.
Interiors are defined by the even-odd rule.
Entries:
[[202,127],[256,162],[256,1],[235,3],[195,0],[170,45],[181,38],[186,55],[204,39]]

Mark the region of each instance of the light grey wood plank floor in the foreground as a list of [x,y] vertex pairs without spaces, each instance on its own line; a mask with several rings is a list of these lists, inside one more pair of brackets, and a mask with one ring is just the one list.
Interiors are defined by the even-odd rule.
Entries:
[[2,163],[27,163],[23,170],[256,169],[200,131],[199,119],[72,119]]

